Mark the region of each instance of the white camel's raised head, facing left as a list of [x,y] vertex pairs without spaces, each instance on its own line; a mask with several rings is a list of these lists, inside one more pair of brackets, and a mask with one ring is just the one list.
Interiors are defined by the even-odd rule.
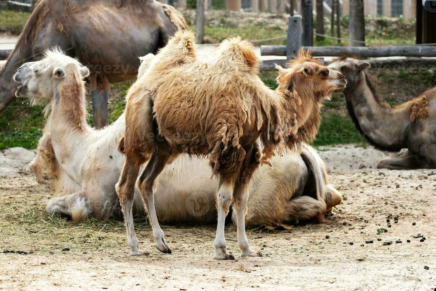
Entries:
[[20,86],[15,96],[51,100],[65,82],[75,79],[82,83],[88,75],[89,69],[75,58],[68,57],[58,49],[48,50],[40,61],[27,62],[18,68],[14,81]]

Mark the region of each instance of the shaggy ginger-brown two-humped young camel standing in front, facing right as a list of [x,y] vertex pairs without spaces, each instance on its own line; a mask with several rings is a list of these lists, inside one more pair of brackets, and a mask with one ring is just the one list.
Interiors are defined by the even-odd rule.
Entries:
[[[158,250],[171,253],[157,221],[153,186],[165,165],[178,154],[209,155],[218,175],[217,260],[234,259],[226,251],[225,217],[233,201],[242,257],[252,251],[245,235],[249,181],[260,163],[268,164],[276,148],[299,148],[311,141],[320,123],[320,107],[331,92],[344,88],[344,76],[301,51],[290,68],[279,68],[279,88],[272,91],[259,78],[259,59],[252,45],[227,39],[209,62],[196,56],[195,36],[178,31],[145,74],[129,89],[126,131],[119,148],[126,163],[116,185],[126,220],[131,256],[147,255],[138,246],[132,217],[137,180],[148,210]],[[265,145],[260,149],[256,140]],[[151,157],[138,178],[141,164]],[[319,197],[318,200],[325,201]]]

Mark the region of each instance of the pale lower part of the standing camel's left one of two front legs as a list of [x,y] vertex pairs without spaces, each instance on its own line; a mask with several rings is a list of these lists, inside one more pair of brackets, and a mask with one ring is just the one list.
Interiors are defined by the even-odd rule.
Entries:
[[235,260],[232,253],[227,253],[224,237],[225,218],[232,203],[233,181],[220,178],[217,191],[218,224],[215,236],[215,260]]

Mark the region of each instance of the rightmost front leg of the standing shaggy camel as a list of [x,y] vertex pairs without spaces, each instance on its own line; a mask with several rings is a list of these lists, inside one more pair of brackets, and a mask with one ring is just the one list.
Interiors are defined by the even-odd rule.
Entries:
[[248,204],[248,188],[254,171],[259,167],[260,151],[257,144],[250,144],[244,148],[245,158],[233,190],[234,209],[238,228],[238,246],[242,250],[241,257],[262,257],[262,253],[250,249],[245,234],[245,213]]

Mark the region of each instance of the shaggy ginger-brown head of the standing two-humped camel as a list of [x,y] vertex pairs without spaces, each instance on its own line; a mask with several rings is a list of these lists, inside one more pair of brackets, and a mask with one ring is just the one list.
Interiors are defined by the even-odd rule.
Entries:
[[297,94],[303,104],[313,100],[313,96],[316,102],[321,103],[324,99],[330,98],[332,92],[344,89],[347,85],[347,80],[341,72],[321,65],[312,57],[310,51],[303,48],[297,58],[289,62],[287,69],[280,66],[276,68],[279,70],[278,90],[287,96]]

